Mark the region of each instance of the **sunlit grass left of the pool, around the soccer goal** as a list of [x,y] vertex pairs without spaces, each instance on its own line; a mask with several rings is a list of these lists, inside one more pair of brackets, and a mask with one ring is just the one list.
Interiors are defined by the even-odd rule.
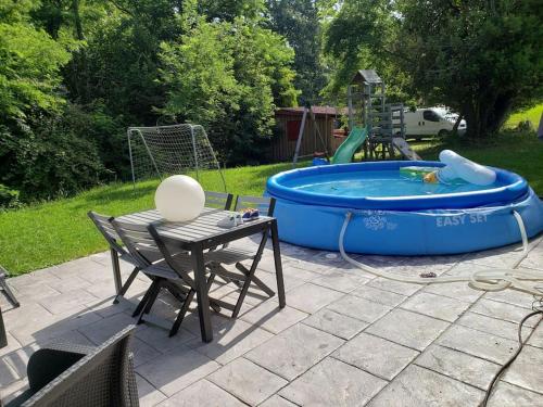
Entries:
[[[261,195],[269,176],[290,168],[291,164],[274,164],[227,169],[226,185],[235,194]],[[204,189],[223,190],[216,171],[202,174],[201,182]],[[87,212],[117,216],[151,208],[157,185],[157,180],[143,181],[134,189],[131,182],[112,183],[0,213],[0,264],[21,275],[106,250]]]

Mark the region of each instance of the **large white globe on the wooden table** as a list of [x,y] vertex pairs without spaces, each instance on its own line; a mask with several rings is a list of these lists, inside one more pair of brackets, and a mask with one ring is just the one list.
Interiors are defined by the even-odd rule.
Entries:
[[202,213],[205,194],[195,179],[174,175],[161,182],[154,194],[154,204],[164,219],[187,221]]

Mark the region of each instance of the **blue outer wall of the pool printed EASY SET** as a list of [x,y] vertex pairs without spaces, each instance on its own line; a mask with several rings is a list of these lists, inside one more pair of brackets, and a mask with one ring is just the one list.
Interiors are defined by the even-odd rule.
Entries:
[[[416,165],[435,163],[417,162]],[[477,207],[422,207],[402,211],[383,207],[361,208],[331,206],[327,202],[294,202],[276,195],[273,188],[267,194],[277,200],[274,215],[278,219],[279,236],[285,242],[338,251],[341,227],[345,214],[351,212],[353,218],[344,240],[346,252],[386,255],[457,254],[519,242],[520,230],[513,211],[522,217],[528,237],[543,231],[542,201],[519,176],[500,171],[498,176],[510,177],[508,179],[515,187],[513,190],[504,189],[505,198],[503,193],[498,193],[500,201]],[[523,181],[523,190],[520,189],[522,186],[519,187],[519,179]],[[507,201],[507,194],[515,199]],[[466,199],[469,200],[469,195]],[[388,200],[379,200],[379,204],[382,201]],[[337,204],[333,198],[331,202]],[[367,204],[366,201],[363,202]],[[469,204],[471,201],[467,202]],[[369,204],[372,205],[372,202]]]

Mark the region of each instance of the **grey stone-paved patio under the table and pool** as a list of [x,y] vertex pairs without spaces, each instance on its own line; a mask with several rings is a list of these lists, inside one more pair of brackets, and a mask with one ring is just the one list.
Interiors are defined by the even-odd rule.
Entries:
[[[254,244],[249,240],[242,244]],[[358,256],[406,276],[458,276],[504,267],[516,247],[460,256]],[[478,406],[492,376],[516,349],[517,322],[532,297],[483,293],[464,283],[419,287],[354,269],[336,253],[282,245],[288,306],[256,291],[237,320],[213,316],[203,344],[198,318],[179,334],[139,326],[134,341],[142,406]],[[530,243],[520,267],[543,271],[543,241]],[[129,267],[124,265],[124,272]],[[267,250],[258,276],[275,284]],[[141,296],[140,276],[128,297]],[[51,341],[98,344],[135,320],[131,305],[112,304],[108,253],[10,280],[22,306],[2,297],[9,346],[0,349],[0,387],[10,399],[26,386],[29,355]],[[235,301],[236,287],[213,295]],[[159,311],[174,315],[173,298]],[[530,326],[536,325],[532,320]],[[492,406],[543,406],[543,323],[498,383]]]

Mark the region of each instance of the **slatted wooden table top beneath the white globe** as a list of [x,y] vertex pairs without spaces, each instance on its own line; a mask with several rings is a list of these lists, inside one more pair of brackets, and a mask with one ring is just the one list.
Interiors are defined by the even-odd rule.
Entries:
[[156,229],[161,234],[190,243],[235,231],[241,232],[245,228],[252,228],[254,226],[266,224],[274,219],[272,217],[261,215],[258,218],[245,221],[242,225],[233,227],[217,226],[217,222],[219,220],[237,214],[237,212],[232,211],[204,207],[200,216],[195,219],[189,221],[173,222],[166,221],[159,214],[159,211],[150,209],[119,216],[118,220],[139,225],[149,225],[155,222]]

